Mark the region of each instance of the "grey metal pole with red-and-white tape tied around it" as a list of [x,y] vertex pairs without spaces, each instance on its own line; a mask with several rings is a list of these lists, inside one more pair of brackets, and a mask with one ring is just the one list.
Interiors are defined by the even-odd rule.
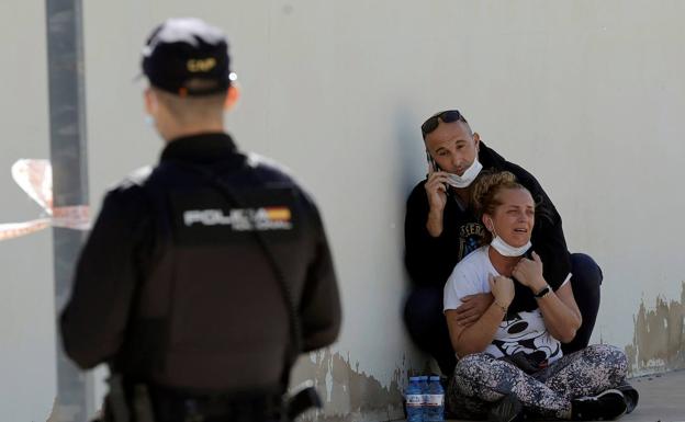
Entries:
[[[86,102],[81,0],[46,0],[50,160],[55,207],[88,204]],[[55,310],[66,304],[85,235],[53,229]],[[57,406],[59,422],[86,422],[93,414],[92,375],[64,354],[57,330]]]

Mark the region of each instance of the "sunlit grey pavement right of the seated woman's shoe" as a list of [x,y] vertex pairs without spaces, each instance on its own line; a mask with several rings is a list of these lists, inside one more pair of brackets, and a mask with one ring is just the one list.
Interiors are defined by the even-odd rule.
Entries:
[[685,370],[633,378],[630,384],[640,392],[640,402],[621,422],[685,422]]

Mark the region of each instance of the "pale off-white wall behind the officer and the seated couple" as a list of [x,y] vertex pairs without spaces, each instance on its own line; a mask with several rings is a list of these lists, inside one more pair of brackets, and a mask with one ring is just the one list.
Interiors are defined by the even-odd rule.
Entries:
[[[12,3],[11,14],[0,7],[0,31],[12,61],[30,66],[1,70],[12,93],[0,98],[4,169],[47,153],[43,10]],[[132,80],[149,28],[171,15],[226,30],[244,94],[227,116],[231,133],[292,168],[324,214],[345,324],[339,342],[305,356],[295,376],[317,380],[327,399],[319,417],[395,418],[406,370],[425,365],[401,323],[404,201],[425,172],[418,126],[450,107],[538,176],[571,250],[602,265],[594,340],[627,347],[633,374],[685,366],[685,3],[87,2],[96,208],[108,185],[161,148],[144,124],[143,83]],[[26,77],[21,89],[15,80]],[[33,217],[9,176],[0,186],[2,220]],[[2,420],[42,420],[54,399],[49,241],[40,233],[0,243],[0,373],[13,375],[0,381]]]

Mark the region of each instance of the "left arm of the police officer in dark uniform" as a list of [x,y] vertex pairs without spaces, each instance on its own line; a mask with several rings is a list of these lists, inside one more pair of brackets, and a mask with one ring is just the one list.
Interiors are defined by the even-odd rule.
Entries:
[[136,281],[134,206],[121,191],[106,195],[76,267],[60,328],[67,355],[82,368],[114,356],[123,341]]

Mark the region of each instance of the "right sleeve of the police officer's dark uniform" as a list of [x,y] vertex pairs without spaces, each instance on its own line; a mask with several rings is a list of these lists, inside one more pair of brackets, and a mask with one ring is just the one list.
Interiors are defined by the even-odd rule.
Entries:
[[332,344],[340,331],[338,286],[326,233],[316,206],[308,203],[314,230],[314,258],[300,301],[303,352]]

